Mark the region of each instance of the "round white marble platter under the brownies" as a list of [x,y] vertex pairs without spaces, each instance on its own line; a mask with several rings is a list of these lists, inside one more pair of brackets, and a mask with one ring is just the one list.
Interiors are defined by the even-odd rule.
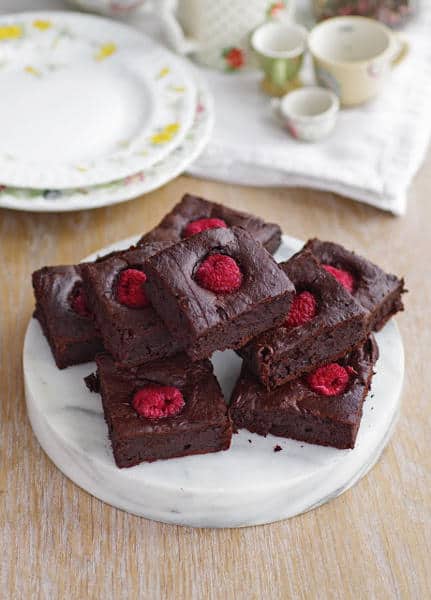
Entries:
[[[134,241],[125,240],[102,253]],[[277,260],[287,259],[301,245],[284,236]],[[83,382],[94,364],[58,370],[34,319],[27,329],[23,356],[28,415],[40,445],[57,467],[108,504],[156,521],[193,527],[269,523],[339,496],[379,459],[399,411],[404,351],[393,320],[376,339],[380,358],[354,450],[272,435],[264,438],[242,430],[225,452],[119,469],[112,457],[100,397]],[[240,359],[231,351],[219,352],[213,363],[229,398]],[[282,450],[274,452],[276,445]]]

